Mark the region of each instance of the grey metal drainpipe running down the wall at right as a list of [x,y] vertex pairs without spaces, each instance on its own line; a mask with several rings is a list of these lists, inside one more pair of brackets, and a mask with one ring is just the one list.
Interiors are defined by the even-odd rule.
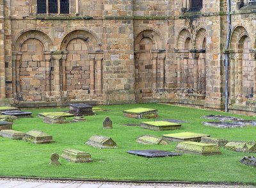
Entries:
[[230,0],[227,0],[227,27],[228,27],[228,33],[227,33],[227,41],[225,46],[225,112],[228,112],[228,47],[230,42],[230,33],[231,33],[231,16],[230,16]]

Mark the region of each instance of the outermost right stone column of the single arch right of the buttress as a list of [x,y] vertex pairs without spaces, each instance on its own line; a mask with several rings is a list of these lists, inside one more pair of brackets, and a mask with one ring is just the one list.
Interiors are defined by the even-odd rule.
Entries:
[[159,52],[157,58],[157,65],[158,65],[158,76],[157,76],[157,83],[158,88],[160,90],[164,90],[164,60],[165,60],[165,52]]

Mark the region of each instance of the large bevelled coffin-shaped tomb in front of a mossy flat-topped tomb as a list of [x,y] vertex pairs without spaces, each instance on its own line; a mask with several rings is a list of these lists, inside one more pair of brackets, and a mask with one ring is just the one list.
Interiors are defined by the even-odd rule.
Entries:
[[186,150],[189,152],[196,152],[196,153],[220,152],[219,147],[217,145],[198,143],[193,141],[185,141],[185,142],[178,143],[176,146],[176,149]]

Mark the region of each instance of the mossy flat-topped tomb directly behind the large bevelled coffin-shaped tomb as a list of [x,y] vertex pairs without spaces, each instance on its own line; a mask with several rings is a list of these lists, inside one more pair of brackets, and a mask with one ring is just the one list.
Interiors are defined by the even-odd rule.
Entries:
[[200,134],[195,132],[179,132],[173,134],[164,134],[163,139],[167,141],[196,141],[200,142],[201,137],[209,136],[207,134]]

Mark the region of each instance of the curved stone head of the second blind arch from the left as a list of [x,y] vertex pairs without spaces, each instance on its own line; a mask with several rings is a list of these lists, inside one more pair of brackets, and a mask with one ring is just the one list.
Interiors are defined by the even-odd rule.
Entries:
[[60,45],[60,51],[67,50],[68,43],[75,38],[81,38],[82,40],[84,40],[90,51],[100,50],[99,41],[97,40],[97,38],[95,38],[95,36],[92,33],[78,29],[75,31],[71,31],[63,37],[63,40]]

